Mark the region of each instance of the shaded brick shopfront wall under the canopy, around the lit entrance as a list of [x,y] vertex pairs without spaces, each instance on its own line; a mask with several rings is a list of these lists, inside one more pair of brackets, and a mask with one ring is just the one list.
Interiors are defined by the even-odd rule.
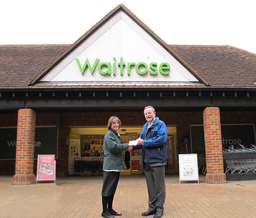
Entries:
[[[157,108],[156,108],[157,109]],[[166,109],[167,110],[167,109]],[[157,116],[166,125],[177,126],[177,143],[179,153],[186,153],[182,137],[190,137],[190,125],[203,124],[203,109],[198,110],[156,110]],[[55,126],[57,114],[61,113],[61,126],[58,128],[57,177],[68,175],[68,146],[66,136],[68,126],[106,126],[110,116],[116,115],[123,126],[141,126],[145,123],[143,108],[134,110],[70,110],[58,112],[36,112],[36,126]],[[252,124],[256,121],[256,112],[250,110],[220,110],[221,124]],[[0,113],[0,127],[18,124],[18,113]],[[190,142],[190,141],[189,141]],[[1,146],[1,145],[0,145]],[[190,153],[190,145],[187,145]],[[36,174],[36,160],[34,174]],[[0,174],[15,174],[15,160],[0,160]]]

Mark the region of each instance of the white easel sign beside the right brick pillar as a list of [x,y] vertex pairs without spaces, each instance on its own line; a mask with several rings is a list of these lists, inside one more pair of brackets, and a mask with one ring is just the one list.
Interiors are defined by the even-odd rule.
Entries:
[[198,154],[179,154],[179,184],[181,181],[198,181]]

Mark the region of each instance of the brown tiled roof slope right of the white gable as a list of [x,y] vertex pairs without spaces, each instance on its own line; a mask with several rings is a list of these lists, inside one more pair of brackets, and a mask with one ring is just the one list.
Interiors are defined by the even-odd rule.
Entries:
[[210,86],[256,88],[256,55],[230,46],[170,45]]

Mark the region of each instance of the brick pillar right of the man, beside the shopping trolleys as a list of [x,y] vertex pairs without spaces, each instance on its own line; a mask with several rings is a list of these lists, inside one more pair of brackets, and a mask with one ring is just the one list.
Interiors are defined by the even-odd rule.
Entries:
[[206,108],[203,111],[203,129],[206,147],[206,182],[224,183],[222,135],[220,108]]

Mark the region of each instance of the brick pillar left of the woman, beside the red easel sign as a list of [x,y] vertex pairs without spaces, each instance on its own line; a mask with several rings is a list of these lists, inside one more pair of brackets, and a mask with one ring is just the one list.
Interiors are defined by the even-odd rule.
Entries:
[[36,182],[34,175],[34,138],[36,113],[31,109],[18,111],[15,175],[12,185]]

